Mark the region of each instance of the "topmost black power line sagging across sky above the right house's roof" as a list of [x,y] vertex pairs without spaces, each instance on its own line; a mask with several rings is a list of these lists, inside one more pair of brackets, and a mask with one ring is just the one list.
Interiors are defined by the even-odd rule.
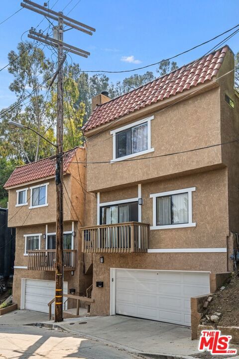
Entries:
[[123,73],[123,72],[133,72],[133,71],[137,71],[137,70],[142,70],[142,69],[145,69],[145,68],[147,68],[147,67],[151,67],[151,66],[158,65],[158,64],[160,64],[160,63],[162,63],[162,62],[164,62],[164,61],[172,60],[172,59],[174,59],[174,58],[176,58],[176,57],[178,57],[178,56],[181,56],[181,55],[183,55],[183,54],[185,54],[185,53],[187,53],[187,52],[190,52],[190,51],[192,51],[192,50],[194,50],[194,49],[196,49],[196,48],[198,48],[198,47],[200,47],[200,46],[202,46],[202,45],[207,44],[208,42],[211,42],[211,41],[215,40],[216,38],[218,38],[218,37],[220,37],[220,36],[226,34],[227,32],[230,32],[230,31],[234,30],[234,29],[237,28],[237,27],[239,27],[239,24],[236,25],[236,26],[233,26],[233,27],[231,27],[230,29],[228,29],[227,31],[224,31],[224,32],[222,32],[221,34],[219,34],[219,35],[217,35],[217,36],[211,38],[210,40],[204,41],[204,42],[200,43],[199,45],[196,45],[196,46],[194,46],[194,47],[191,47],[191,48],[188,49],[188,50],[185,50],[185,51],[183,51],[183,52],[178,53],[177,55],[168,57],[168,58],[166,58],[166,59],[164,59],[164,60],[160,60],[160,61],[158,61],[158,62],[154,62],[154,63],[149,64],[149,65],[137,67],[137,68],[134,68],[134,69],[131,69],[131,70],[121,70],[121,71],[79,70],[79,71],[73,71],[72,73],[79,73],[79,72]]

